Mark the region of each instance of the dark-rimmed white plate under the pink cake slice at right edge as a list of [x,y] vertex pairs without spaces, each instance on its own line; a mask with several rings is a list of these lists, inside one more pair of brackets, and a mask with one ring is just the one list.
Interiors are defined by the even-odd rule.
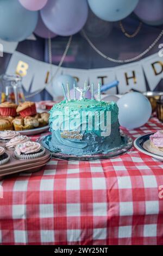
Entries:
[[152,156],[155,159],[158,159],[160,161],[163,161],[163,153],[159,150],[152,148],[149,143],[150,142],[149,136],[152,134],[153,133],[149,133],[149,134],[140,136],[139,138],[135,139],[134,146],[140,152],[142,152],[148,156]]

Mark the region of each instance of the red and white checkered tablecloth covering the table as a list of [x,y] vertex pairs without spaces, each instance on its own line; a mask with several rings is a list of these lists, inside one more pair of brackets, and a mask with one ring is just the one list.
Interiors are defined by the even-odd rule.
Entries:
[[[162,128],[152,118],[124,132],[135,139]],[[134,147],[110,160],[53,159],[0,184],[2,245],[163,245],[163,162]]]

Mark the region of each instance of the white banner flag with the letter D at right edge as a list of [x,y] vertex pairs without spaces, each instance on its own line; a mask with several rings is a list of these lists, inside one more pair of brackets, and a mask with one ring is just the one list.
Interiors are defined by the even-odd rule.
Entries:
[[160,80],[163,78],[163,57],[158,53],[153,54],[143,60],[141,64],[149,84],[149,88],[154,90]]

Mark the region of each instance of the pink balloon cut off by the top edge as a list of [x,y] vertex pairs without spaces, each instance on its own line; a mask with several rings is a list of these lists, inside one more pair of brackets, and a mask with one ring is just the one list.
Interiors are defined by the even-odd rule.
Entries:
[[30,11],[38,11],[45,7],[48,0],[18,0],[24,8]]

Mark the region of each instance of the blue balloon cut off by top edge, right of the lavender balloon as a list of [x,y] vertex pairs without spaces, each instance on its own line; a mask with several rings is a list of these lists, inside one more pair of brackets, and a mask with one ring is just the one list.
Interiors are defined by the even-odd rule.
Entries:
[[88,0],[93,13],[104,21],[119,21],[135,9],[139,0]]

